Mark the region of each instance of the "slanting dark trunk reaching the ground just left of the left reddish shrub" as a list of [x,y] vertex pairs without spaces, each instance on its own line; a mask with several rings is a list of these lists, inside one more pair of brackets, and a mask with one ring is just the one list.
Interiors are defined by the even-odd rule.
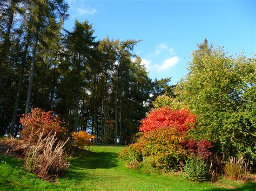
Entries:
[[28,35],[27,35],[26,45],[25,45],[23,58],[22,58],[21,71],[19,73],[18,89],[17,89],[17,95],[16,95],[16,100],[15,100],[15,105],[14,105],[14,112],[12,114],[12,121],[11,121],[11,127],[10,127],[10,135],[11,136],[14,136],[14,129],[15,129],[16,121],[17,121],[17,112],[18,112],[18,107],[19,107],[19,97],[21,95],[22,77],[23,77],[24,67],[25,67],[25,64],[26,64],[26,54],[28,53],[29,41],[30,41],[30,30],[29,30]]

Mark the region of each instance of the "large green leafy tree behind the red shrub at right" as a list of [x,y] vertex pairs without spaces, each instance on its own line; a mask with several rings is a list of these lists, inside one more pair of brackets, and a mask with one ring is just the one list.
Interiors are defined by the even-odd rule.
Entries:
[[[194,136],[213,140],[227,155],[255,159],[255,58],[234,58],[207,40],[192,54],[178,98],[199,116]],[[197,133],[196,133],[197,132]]]

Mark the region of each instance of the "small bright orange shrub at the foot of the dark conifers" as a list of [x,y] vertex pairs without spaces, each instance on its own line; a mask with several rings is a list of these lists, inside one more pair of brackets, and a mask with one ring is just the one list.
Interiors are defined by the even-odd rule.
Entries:
[[95,136],[87,134],[86,131],[72,132],[73,143],[79,148],[90,146],[90,140]]

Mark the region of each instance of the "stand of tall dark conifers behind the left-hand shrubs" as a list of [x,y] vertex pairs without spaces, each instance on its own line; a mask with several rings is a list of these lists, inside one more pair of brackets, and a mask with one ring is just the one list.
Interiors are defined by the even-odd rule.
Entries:
[[[87,20],[63,30],[67,5],[62,0],[17,2],[5,2],[1,25],[0,52],[9,57],[1,56],[0,135],[18,135],[19,117],[32,106],[59,115],[69,133],[83,130],[97,142],[131,142],[150,109],[145,103],[153,88],[132,52],[139,41],[97,41]],[[20,17],[14,14],[16,25],[9,6],[15,13],[23,9]]]

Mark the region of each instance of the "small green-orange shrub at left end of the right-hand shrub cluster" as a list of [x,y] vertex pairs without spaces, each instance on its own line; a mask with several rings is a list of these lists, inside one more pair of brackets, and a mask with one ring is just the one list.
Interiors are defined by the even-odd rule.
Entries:
[[126,164],[133,165],[135,161],[142,161],[143,146],[139,143],[134,143],[126,146],[120,153],[119,158],[124,160]]

